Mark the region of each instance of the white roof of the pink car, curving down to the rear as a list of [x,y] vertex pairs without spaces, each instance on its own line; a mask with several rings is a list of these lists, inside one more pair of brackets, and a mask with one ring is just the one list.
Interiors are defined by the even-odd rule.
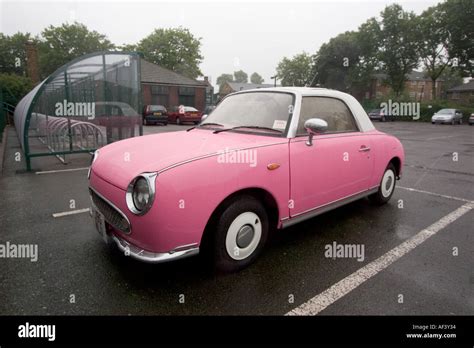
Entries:
[[268,87],[268,88],[255,88],[255,89],[248,89],[245,91],[239,91],[233,94],[239,93],[248,93],[248,92],[261,92],[261,91],[269,91],[269,92],[286,92],[286,93],[293,93],[297,97],[332,97],[341,99],[346,103],[349,109],[352,111],[352,114],[356,118],[356,122],[359,125],[359,129],[361,132],[368,132],[374,130],[375,127],[372,124],[367,112],[365,112],[364,108],[360,103],[355,99],[352,95],[337,91],[335,89],[328,89],[328,88],[320,88],[320,87]]

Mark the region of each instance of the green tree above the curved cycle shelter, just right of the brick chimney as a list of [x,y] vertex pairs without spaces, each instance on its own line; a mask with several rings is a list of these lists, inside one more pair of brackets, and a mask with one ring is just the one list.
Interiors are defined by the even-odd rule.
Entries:
[[105,35],[90,31],[84,24],[50,25],[41,33],[39,63],[42,77],[84,54],[112,50],[115,46]]

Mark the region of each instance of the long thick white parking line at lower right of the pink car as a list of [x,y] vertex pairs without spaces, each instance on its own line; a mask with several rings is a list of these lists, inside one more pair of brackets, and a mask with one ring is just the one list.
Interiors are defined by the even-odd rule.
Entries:
[[415,249],[428,238],[434,236],[450,223],[459,219],[471,209],[474,209],[474,203],[472,202],[462,205],[458,209],[436,221],[431,226],[421,230],[407,241],[388,251],[375,261],[370,262],[366,266],[337,282],[329,289],[323,291],[309,301],[286,313],[286,315],[316,315],[320,313],[322,310],[326,309],[328,306],[350,293],[359,285],[363,284],[380,271],[383,271],[399,258]]

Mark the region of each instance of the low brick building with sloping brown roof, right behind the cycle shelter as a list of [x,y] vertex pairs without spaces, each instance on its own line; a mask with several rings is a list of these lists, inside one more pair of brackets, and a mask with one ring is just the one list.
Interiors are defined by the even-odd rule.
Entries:
[[206,106],[206,81],[196,81],[165,69],[144,59],[141,60],[142,103],[193,106],[202,111]]

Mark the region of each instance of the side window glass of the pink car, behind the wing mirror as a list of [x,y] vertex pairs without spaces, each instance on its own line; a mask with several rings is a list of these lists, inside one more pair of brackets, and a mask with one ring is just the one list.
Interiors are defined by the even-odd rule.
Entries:
[[320,118],[328,123],[326,133],[358,132],[354,116],[347,105],[336,98],[303,97],[296,135],[306,135],[304,123]]

